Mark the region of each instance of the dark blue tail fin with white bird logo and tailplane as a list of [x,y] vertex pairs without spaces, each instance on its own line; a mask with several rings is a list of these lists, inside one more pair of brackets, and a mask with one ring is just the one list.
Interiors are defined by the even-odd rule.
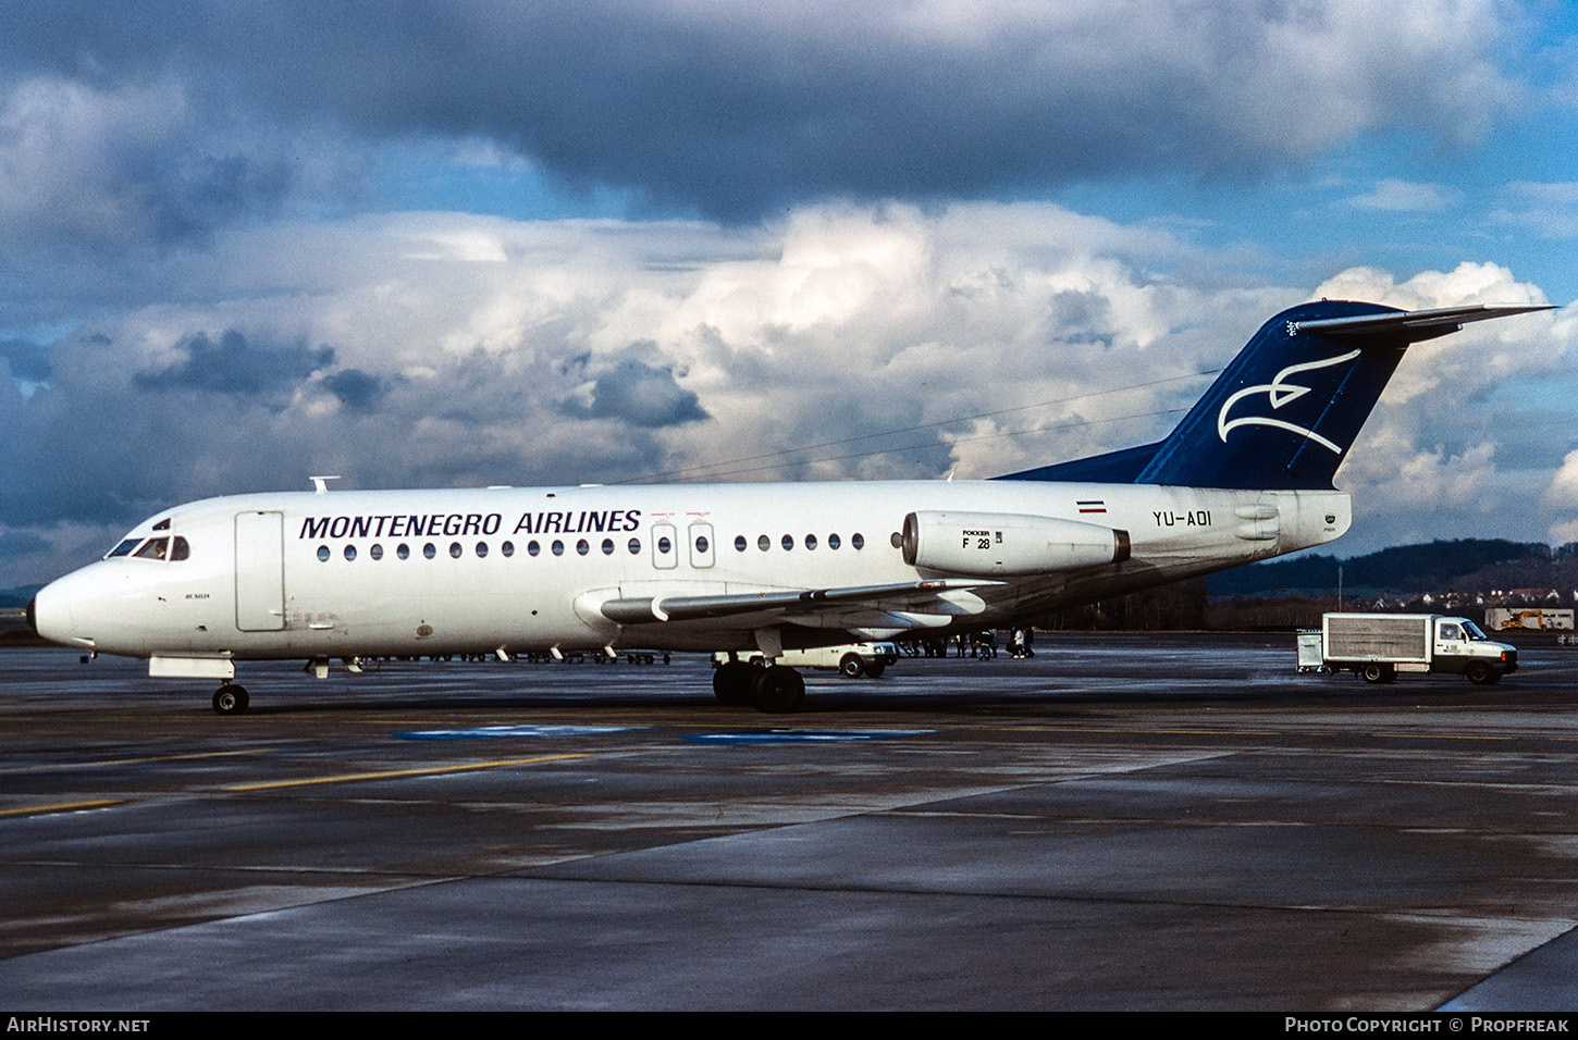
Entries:
[[1166,440],[1008,480],[1330,489],[1408,344],[1545,306],[1398,311],[1321,300],[1266,322]]

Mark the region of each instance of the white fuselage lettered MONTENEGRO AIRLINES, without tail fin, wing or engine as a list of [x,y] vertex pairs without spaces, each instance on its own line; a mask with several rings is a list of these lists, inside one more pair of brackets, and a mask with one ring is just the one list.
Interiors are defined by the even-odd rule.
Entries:
[[96,652],[218,660],[750,650],[767,628],[783,645],[887,638],[904,625],[881,612],[620,625],[598,604],[948,578],[895,544],[917,510],[1078,521],[1130,543],[1120,562],[982,582],[939,634],[1322,544],[1349,526],[1337,491],[1015,480],[252,494],[150,518],[128,540],[180,537],[185,559],[92,563],[38,593],[35,623]]

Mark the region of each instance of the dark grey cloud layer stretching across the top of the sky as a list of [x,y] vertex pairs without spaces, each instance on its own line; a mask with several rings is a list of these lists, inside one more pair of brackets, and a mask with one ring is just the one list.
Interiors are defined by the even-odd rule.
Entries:
[[[145,158],[193,133],[194,109],[197,126],[267,114],[495,145],[567,183],[750,218],[825,197],[1258,174],[1400,126],[1452,142],[1520,90],[1498,68],[1496,0],[24,6],[0,41],[13,125],[33,125],[24,98],[43,92],[44,125],[82,129],[24,134],[16,153],[109,156],[52,193],[73,204],[63,219],[95,226],[129,211],[180,229],[278,189],[278,167],[226,150],[153,174]],[[158,77],[175,93],[133,85]]]

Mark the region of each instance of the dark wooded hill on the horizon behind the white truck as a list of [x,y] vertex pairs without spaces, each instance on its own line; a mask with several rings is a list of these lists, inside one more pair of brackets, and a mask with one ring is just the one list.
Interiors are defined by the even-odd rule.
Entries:
[[1337,568],[1348,595],[1486,592],[1491,587],[1546,585],[1570,595],[1578,576],[1578,543],[1557,549],[1540,541],[1458,538],[1393,546],[1367,556],[1307,556],[1251,563],[1206,578],[1213,597],[1330,595]]

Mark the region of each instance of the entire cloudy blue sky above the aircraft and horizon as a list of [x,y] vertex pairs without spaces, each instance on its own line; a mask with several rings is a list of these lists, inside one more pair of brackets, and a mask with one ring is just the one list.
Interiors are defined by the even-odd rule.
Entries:
[[1362,552],[1578,540],[1565,0],[17,0],[0,589],[215,494],[991,477],[1270,314],[1414,347]]

